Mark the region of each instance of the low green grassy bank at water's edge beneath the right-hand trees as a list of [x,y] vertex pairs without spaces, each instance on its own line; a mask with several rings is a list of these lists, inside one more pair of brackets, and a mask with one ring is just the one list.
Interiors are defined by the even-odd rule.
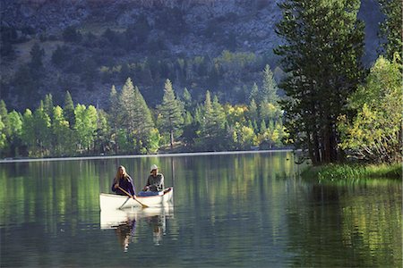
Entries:
[[326,164],[310,166],[302,172],[304,179],[358,180],[368,178],[400,179],[402,166],[395,164]]

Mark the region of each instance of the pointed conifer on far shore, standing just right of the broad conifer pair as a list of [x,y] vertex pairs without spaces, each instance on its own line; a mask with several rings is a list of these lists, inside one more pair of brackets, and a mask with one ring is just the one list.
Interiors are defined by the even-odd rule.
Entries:
[[169,133],[169,141],[172,149],[174,147],[174,133],[179,130],[184,123],[182,116],[184,109],[179,100],[176,99],[174,88],[172,88],[170,80],[166,80],[165,82],[164,96],[162,104],[159,105],[159,113],[162,116],[162,130]]

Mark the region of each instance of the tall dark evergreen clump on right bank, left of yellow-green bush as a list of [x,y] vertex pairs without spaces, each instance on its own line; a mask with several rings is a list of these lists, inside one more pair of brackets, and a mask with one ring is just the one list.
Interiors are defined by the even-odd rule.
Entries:
[[334,162],[342,155],[337,117],[363,78],[364,23],[356,18],[359,5],[359,0],[279,4],[283,19],[276,31],[285,44],[275,53],[289,73],[280,84],[288,96],[281,102],[285,126],[289,138],[313,163]]

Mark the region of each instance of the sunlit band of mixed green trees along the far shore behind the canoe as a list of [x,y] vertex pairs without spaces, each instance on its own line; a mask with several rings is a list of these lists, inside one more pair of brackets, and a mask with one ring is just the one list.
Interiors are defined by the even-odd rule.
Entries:
[[162,101],[150,109],[130,78],[119,93],[115,86],[111,88],[107,111],[74,105],[69,92],[63,107],[55,106],[49,94],[33,112],[26,109],[23,114],[7,111],[2,100],[2,154],[154,154],[166,145],[171,152],[282,147],[285,130],[278,88],[270,67],[262,72],[263,87],[254,84],[248,105],[221,105],[210,91],[202,103],[196,103],[186,88],[177,96],[166,80]]

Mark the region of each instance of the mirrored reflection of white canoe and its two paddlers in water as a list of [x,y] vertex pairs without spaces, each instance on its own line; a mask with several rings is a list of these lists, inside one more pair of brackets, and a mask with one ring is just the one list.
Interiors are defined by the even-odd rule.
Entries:
[[138,226],[147,226],[152,232],[152,241],[159,246],[167,233],[167,219],[174,217],[174,206],[168,203],[161,207],[133,207],[100,212],[100,229],[115,230],[119,245],[128,252],[129,244],[135,243]]

